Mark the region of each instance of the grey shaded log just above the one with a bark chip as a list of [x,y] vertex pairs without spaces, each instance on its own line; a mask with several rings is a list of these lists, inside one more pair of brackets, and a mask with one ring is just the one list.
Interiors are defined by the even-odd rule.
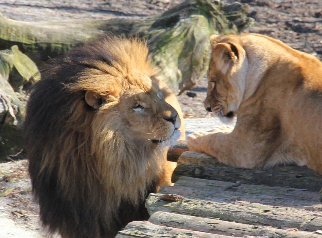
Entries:
[[[175,186],[161,187],[159,193],[180,194],[194,199],[207,199],[219,203],[243,206],[296,207],[308,211],[322,211],[317,202],[318,193],[295,188],[239,184],[198,178],[180,177]],[[247,203],[244,203],[247,202]],[[253,203],[256,203],[255,205]]]

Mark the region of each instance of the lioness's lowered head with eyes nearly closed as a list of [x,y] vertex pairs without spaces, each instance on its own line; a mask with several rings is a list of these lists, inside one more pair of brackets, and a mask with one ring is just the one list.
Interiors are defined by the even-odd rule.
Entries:
[[245,50],[233,40],[212,35],[210,43],[212,55],[204,106],[220,119],[231,119],[243,99],[248,60]]

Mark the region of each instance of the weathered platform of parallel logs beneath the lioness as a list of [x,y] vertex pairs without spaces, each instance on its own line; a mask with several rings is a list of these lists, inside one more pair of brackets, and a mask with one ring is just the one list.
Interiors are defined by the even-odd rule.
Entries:
[[211,156],[186,151],[184,144],[174,149],[183,152],[177,156],[175,185],[150,194],[150,219],[128,224],[118,238],[322,238],[322,177],[317,173],[295,166],[226,167]]

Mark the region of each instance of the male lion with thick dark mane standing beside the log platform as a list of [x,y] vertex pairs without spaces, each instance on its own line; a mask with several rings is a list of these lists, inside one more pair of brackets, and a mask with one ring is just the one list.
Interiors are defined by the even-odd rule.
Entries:
[[63,238],[114,237],[148,218],[148,193],[171,184],[169,146],[184,138],[175,95],[145,43],[109,36],[52,62],[26,109],[40,218]]

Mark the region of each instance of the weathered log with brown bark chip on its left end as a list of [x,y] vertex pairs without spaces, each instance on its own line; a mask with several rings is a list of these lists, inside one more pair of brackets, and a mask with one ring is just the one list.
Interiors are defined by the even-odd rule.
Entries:
[[146,206],[152,215],[155,212],[170,212],[243,224],[266,225],[278,229],[297,228],[314,232],[321,227],[322,213],[304,209],[268,206],[249,202],[213,202],[210,200],[183,197],[178,202],[160,200],[164,194],[150,194]]

